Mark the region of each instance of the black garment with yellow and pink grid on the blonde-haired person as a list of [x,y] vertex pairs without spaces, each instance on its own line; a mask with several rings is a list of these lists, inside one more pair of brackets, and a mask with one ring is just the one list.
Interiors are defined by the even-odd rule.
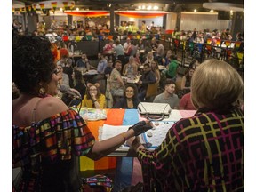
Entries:
[[200,109],[137,155],[144,191],[244,191],[244,114]]

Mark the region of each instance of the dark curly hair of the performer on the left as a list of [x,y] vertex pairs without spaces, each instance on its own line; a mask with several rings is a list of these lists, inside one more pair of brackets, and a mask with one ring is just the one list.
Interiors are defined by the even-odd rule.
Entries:
[[12,41],[12,81],[20,92],[36,92],[47,84],[56,68],[49,40],[38,36],[17,36]]

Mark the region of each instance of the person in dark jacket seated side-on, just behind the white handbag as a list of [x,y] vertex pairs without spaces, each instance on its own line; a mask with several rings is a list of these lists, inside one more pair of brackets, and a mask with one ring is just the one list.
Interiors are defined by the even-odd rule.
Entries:
[[141,101],[145,99],[147,89],[148,89],[148,84],[155,84],[156,83],[156,76],[154,72],[151,70],[150,66],[148,63],[145,63],[143,65],[143,73],[142,76],[140,77],[139,81],[139,94],[138,97]]

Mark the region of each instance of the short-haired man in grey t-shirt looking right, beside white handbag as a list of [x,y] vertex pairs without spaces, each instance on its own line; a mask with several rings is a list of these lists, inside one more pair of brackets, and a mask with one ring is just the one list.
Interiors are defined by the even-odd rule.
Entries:
[[171,79],[167,79],[164,82],[164,92],[156,95],[156,98],[153,102],[156,103],[168,103],[171,108],[179,109],[179,98],[178,95],[175,94],[175,82]]

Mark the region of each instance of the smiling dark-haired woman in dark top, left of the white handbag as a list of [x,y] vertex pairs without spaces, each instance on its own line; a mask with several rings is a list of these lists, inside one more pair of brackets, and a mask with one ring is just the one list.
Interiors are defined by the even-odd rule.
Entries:
[[139,103],[137,86],[135,84],[126,84],[124,97],[118,100],[113,108],[137,108]]

